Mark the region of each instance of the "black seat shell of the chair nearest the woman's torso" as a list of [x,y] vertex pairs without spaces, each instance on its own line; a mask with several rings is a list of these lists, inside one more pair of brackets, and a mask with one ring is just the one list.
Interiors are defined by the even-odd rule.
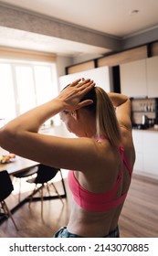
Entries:
[[35,183],[44,184],[57,175],[59,169],[48,165],[38,165]]

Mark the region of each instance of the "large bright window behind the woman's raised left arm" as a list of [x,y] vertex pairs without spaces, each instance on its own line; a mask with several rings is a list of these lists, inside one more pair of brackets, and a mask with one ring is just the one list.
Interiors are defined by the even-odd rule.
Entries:
[[2,126],[19,114],[57,96],[56,64],[0,59],[0,94]]

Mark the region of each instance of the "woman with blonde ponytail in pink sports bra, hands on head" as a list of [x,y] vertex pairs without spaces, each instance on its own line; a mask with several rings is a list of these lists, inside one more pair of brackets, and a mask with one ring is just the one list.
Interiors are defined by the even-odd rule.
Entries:
[[[38,133],[58,113],[78,138]],[[1,129],[0,144],[8,151],[73,170],[68,174],[73,194],[68,226],[55,237],[119,237],[118,221],[135,160],[130,116],[126,96],[107,94],[92,80],[75,80],[54,100]]]

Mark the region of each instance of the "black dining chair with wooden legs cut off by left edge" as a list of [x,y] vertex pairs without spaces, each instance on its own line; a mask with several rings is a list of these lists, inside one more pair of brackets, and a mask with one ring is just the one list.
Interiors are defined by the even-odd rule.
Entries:
[[10,219],[12,219],[16,230],[18,230],[12,213],[10,212],[9,208],[5,203],[5,198],[9,197],[13,190],[14,187],[8,172],[6,170],[0,171],[0,211],[3,211],[7,217],[10,217]]

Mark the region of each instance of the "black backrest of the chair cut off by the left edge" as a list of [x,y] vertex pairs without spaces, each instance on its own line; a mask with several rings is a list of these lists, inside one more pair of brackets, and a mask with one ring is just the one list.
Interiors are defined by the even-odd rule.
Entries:
[[0,171],[0,201],[5,200],[14,190],[12,180],[6,170]]

